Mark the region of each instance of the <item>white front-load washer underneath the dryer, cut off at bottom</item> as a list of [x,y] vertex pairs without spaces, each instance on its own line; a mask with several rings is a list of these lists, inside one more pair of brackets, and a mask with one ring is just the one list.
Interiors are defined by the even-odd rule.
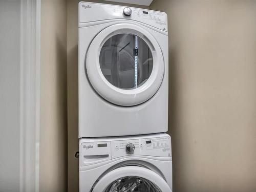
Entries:
[[172,192],[167,134],[80,139],[79,150],[80,192]]

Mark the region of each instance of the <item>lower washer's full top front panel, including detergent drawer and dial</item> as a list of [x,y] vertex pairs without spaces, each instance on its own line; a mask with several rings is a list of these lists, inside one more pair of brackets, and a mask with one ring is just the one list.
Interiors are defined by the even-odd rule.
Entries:
[[171,157],[170,136],[95,138],[80,140],[81,165],[91,165],[125,156]]

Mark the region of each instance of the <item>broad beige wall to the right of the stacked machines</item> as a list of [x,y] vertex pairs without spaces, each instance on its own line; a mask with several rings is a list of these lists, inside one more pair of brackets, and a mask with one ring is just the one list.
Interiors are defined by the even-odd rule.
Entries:
[[150,8],[168,14],[174,191],[256,191],[256,1]]

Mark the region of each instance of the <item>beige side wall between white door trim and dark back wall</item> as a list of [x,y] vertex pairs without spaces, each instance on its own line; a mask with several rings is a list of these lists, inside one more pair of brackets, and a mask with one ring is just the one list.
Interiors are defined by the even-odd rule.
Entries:
[[40,192],[67,191],[67,2],[41,1]]

